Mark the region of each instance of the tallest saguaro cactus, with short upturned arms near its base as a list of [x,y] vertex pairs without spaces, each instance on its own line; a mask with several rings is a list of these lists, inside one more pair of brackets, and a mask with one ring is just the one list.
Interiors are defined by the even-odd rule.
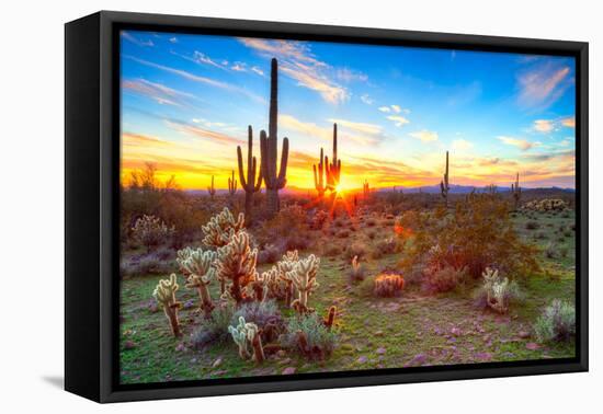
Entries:
[[283,139],[283,149],[281,151],[281,169],[276,164],[278,154],[277,117],[278,117],[278,64],[272,59],[270,70],[270,119],[269,135],[265,131],[260,133],[260,150],[262,154],[262,175],[266,186],[268,214],[274,216],[278,212],[278,189],[285,187],[287,183],[287,160],[289,154],[289,140]]

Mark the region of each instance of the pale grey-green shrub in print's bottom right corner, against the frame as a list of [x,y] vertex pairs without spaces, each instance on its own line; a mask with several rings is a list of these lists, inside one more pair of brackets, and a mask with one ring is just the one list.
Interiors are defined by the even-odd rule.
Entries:
[[576,334],[576,308],[555,299],[536,320],[534,332],[541,342],[569,341]]

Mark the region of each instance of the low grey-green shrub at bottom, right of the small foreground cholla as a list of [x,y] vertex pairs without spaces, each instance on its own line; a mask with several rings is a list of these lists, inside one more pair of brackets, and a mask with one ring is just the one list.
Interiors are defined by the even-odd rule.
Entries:
[[283,347],[295,350],[308,359],[323,359],[333,352],[337,333],[327,329],[319,315],[309,313],[291,318],[286,332],[278,341]]

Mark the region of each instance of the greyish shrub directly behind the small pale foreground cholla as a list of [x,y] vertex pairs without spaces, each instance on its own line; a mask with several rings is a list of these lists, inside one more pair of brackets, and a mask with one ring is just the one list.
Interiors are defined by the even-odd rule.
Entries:
[[274,300],[253,301],[241,304],[232,314],[231,325],[237,325],[239,318],[258,325],[262,330],[262,341],[270,343],[283,331],[285,322]]

